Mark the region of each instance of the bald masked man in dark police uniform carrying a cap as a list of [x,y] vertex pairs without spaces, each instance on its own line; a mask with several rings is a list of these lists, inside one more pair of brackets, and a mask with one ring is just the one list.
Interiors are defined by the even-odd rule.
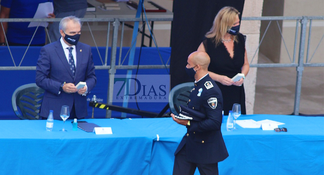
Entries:
[[221,133],[223,97],[220,89],[208,75],[210,58],[206,52],[195,51],[187,60],[186,72],[194,78],[188,108],[203,113],[202,121],[178,119],[187,127],[175,152],[173,175],[193,175],[196,168],[201,175],[218,175],[218,162],[228,157]]

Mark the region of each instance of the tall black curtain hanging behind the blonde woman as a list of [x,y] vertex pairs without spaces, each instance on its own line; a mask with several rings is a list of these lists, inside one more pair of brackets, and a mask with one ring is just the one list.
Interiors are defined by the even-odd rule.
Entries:
[[[171,88],[192,82],[185,71],[187,58],[196,51],[213,25],[218,11],[225,6],[235,7],[242,15],[244,0],[174,0],[171,27]],[[239,18],[241,19],[241,15]]]

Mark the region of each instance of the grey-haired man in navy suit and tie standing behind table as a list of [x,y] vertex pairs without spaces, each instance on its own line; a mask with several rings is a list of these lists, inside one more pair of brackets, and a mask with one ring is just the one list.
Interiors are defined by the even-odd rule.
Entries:
[[[71,118],[87,116],[86,95],[95,87],[97,79],[91,47],[78,42],[80,19],[68,16],[59,25],[61,38],[41,48],[36,66],[36,84],[45,90],[40,115],[47,118],[53,110],[54,119],[61,119],[62,105],[70,108]],[[76,84],[86,82],[77,89]]]

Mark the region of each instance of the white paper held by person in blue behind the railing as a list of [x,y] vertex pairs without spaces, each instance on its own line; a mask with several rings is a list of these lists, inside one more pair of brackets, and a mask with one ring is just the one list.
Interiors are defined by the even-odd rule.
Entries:
[[[53,13],[54,7],[52,2],[40,3],[33,18],[47,18],[49,13]],[[48,22],[30,22],[28,27],[39,26],[47,27]]]

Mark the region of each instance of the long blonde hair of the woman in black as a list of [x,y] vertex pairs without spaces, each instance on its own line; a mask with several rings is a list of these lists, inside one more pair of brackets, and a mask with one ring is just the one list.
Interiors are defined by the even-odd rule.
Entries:
[[[212,38],[216,46],[219,45],[222,37],[224,37],[228,29],[233,26],[236,16],[239,14],[240,13],[234,7],[223,7],[216,15],[213,27],[206,33],[206,38]],[[233,39],[237,42],[237,36],[234,36]]]

